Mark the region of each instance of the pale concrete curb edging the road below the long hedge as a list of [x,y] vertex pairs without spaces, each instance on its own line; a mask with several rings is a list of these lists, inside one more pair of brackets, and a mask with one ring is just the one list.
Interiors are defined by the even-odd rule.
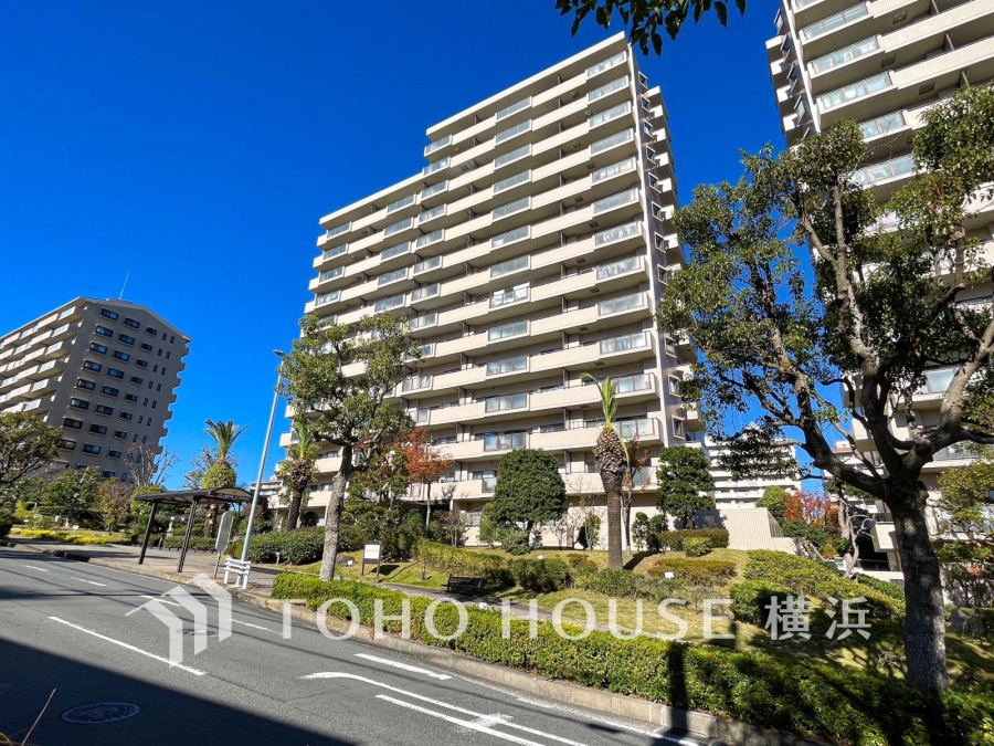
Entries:
[[[103,557],[87,557],[83,553],[66,549],[46,549],[36,545],[29,546],[15,542],[0,539],[0,546],[13,547],[36,554],[47,554],[66,559],[87,561],[91,565],[108,567],[125,572],[142,575],[169,580],[179,585],[193,585],[192,578],[179,572],[157,570],[150,567],[134,565],[126,561],[106,559]],[[278,599],[269,599],[251,591],[228,588],[232,598],[265,609],[271,612],[283,613],[287,606]],[[316,612],[299,605],[289,605],[292,618],[311,629],[321,630]],[[326,617],[327,631],[332,634],[343,634],[349,629],[349,623],[342,619]],[[678,710],[668,705],[638,700],[635,697],[614,694],[603,690],[591,689],[582,684],[573,684],[563,681],[553,681],[535,674],[516,671],[505,666],[479,661],[462,653],[444,648],[426,645],[413,640],[404,640],[393,634],[374,637],[373,630],[368,627],[359,627],[353,640],[370,645],[391,650],[403,655],[417,659],[438,669],[444,669],[469,679],[494,684],[498,687],[514,690],[515,692],[531,694],[568,706],[582,707],[601,714],[610,714],[633,721],[639,721],[662,728],[664,732],[684,731],[698,738],[716,739],[737,746],[827,746],[824,742],[804,738],[792,733],[775,733],[764,728],[740,723],[717,715]]]

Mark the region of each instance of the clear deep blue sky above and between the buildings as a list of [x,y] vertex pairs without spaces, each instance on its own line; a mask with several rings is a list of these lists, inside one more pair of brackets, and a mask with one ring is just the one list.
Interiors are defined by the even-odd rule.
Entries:
[[[737,178],[739,148],[783,145],[774,12],[706,18],[641,60],[669,108],[684,202]],[[296,336],[318,219],[420,170],[427,127],[610,33],[591,19],[571,38],[553,0],[9,3],[0,333],[78,295],[117,297],[130,271],[125,298],[193,339],[170,484],[207,418],[251,424],[235,448],[250,482],[269,350]]]

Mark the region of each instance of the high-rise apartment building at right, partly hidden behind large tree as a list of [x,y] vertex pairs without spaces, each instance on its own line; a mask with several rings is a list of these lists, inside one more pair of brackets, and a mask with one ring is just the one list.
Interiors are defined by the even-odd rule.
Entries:
[[[858,122],[873,162],[855,178],[884,201],[911,177],[910,136],[924,125],[922,113],[964,85],[994,82],[994,0],[781,0],[775,22],[778,35],[766,52],[787,145],[840,119]],[[973,207],[967,231],[992,262],[994,204],[977,200]],[[892,224],[888,214],[880,227]],[[961,302],[990,304],[991,296],[985,284]],[[938,421],[952,375],[942,367],[928,372],[914,398],[923,423]],[[898,413],[898,434],[906,427]],[[852,433],[857,448],[875,459],[864,429],[853,423]],[[938,475],[966,463],[961,450],[947,449],[926,466],[927,485],[938,496]],[[870,508],[879,517],[875,547],[888,553],[897,570],[892,523],[881,503]]]

